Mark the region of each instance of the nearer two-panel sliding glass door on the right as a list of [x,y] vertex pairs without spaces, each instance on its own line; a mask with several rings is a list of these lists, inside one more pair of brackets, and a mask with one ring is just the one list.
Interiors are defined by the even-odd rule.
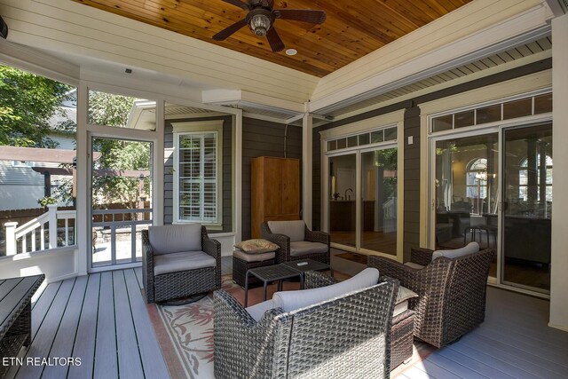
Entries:
[[432,147],[435,249],[477,241],[497,252],[495,282],[548,292],[552,125],[456,133]]

